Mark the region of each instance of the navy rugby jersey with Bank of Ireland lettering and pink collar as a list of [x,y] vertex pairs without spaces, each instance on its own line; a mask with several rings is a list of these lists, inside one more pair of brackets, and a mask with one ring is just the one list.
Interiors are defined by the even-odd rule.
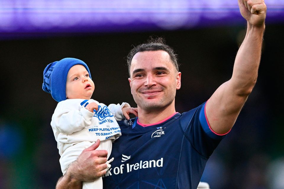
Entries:
[[118,122],[122,136],[112,146],[107,189],[195,189],[206,162],[225,135],[210,130],[205,103],[152,126],[137,118]]

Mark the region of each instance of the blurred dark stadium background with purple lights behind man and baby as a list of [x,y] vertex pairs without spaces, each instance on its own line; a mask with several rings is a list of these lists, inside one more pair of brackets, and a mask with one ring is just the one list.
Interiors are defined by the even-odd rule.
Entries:
[[[212,189],[284,188],[284,0],[266,4],[259,79],[206,165]],[[48,63],[85,61],[94,99],[135,107],[125,57],[163,36],[179,54],[183,112],[230,79],[245,28],[237,0],[0,0],[0,188],[55,188],[62,174],[50,126],[57,103],[41,89]]]

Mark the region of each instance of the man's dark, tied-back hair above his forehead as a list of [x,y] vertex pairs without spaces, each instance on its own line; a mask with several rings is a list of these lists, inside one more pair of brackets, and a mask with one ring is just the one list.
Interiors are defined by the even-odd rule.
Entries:
[[138,52],[143,52],[143,51],[156,51],[156,50],[163,50],[167,52],[170,55],[171,61],[174,64],[175,68],[178,71],[178,55],[175,54],[175,51],[173,50],[172,47],[167,45],[166,40],[164,38],[153,38],[150,36],[149,40],[147,40],[146,43],[140,44],[133,49],[130,50],[127,56],[127,66],[128,66],[128,73],[130,76],[130,66],[131,66],[131,61],[133,59],[133,56],[138,53]]

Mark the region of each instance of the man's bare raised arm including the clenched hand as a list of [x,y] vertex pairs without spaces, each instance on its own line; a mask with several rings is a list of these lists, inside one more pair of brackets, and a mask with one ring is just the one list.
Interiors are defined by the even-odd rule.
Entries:
[[246,37],[238,50],[232,77],[223,83],[206,103],[206,117],[211,129],[225,134],[233,127],[257,78],[266,5],[263,0],[238,0],[240,12],[247,20]]

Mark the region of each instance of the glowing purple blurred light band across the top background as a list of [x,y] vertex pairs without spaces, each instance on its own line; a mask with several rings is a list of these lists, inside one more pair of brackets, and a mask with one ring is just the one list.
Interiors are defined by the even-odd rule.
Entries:
[[[284,0],[267,0],[267,22],[284,22]],[[1,0],[0,36],[127,32],[244,23],[238,1]]]

